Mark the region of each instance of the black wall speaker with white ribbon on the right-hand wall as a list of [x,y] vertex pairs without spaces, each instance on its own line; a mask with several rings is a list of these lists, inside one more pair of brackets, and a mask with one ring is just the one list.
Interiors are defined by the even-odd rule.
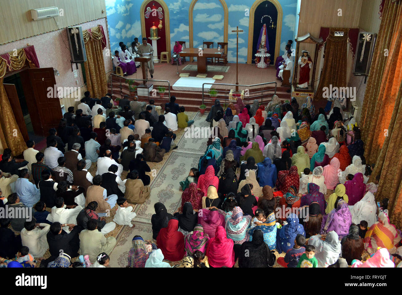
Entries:
[[375,33],[359,33],[359,40],[357,42],[355,55],[355,64],[353,65],[353,74],[355,76],[369,75],[376,40],[377,34]]

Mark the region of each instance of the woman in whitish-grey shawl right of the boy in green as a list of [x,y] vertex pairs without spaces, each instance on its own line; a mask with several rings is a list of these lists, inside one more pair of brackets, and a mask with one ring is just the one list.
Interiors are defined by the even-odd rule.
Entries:
[[[321,240],[325,238],[325,240]],[[314,257],[318,260],[318,267],[328,267],[334,264],[339,259],[340,243],[338,234],[336,232],[328,232],[326,235],[317,234],[310,237],[308,240],[309,245],[316,247],[316,254]]]

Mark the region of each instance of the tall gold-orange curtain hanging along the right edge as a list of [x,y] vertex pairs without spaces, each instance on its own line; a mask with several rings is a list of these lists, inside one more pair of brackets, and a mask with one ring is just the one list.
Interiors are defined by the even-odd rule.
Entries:
[[[402,226],[402,2],[385,1],[361,116],[365,157],[380,176],[377,200],[389,198],[391,222]],[[388,56],[384,56],[387,49]],[[390,114],[392,114],[390,116]]]

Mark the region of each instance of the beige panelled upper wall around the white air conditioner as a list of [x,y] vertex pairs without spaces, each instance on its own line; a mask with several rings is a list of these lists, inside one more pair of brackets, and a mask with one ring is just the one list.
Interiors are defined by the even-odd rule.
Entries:
[[[32,20],[31,9],[50,6],[64,16]],[[0,45],[106,17],[105,0],[1,0],[1,7]]]

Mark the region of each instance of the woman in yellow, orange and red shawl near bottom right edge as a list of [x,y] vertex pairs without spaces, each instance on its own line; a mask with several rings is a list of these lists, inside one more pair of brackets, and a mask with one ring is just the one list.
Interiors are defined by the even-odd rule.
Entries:
[[364,248],[369,254],[375,253],[378,247],[387,248],[390,254],[396,252],[395,245],[400,242],[401,236],[395,226],[389,222],[388,216],[381,212],[378,215],[378,221],[367,230],[364,237]]

